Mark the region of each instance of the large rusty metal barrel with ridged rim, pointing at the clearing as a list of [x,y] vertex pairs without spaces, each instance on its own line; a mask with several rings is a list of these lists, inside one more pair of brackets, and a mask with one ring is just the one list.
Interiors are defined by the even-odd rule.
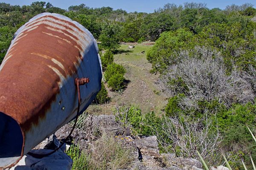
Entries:
[[0,169],[11,167],[81,111],[101,88],[93,35],[60,14],[42,13],[20,27],[0,65]]

